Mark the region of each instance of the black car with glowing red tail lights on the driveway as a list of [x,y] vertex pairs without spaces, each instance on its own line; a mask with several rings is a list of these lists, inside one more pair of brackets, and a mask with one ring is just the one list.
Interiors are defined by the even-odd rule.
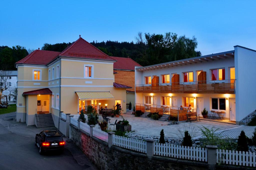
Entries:
[[44,130],[36,134],[35,145],[39,148],[39,153],[56,150],[63,153],[65,141],[56,130]]

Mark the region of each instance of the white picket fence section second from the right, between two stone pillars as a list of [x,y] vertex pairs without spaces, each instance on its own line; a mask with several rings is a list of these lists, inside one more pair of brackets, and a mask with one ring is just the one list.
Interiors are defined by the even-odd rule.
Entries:
[[207,162],[207,149],[154,143],[154,155]]

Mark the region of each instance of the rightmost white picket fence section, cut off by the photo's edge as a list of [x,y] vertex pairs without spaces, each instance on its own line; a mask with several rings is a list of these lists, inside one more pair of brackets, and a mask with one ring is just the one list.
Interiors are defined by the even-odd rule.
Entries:
[[256,166],[255,152],[241,152],[217,149],[217,163]]

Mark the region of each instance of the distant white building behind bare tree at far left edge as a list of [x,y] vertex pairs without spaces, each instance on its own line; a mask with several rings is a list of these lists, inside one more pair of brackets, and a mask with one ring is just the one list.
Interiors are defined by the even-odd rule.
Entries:
[[[9,90],[10,94],[7,96],[7,102],[8,101],[13,101],[13,99],[16,99],[12,95],[13,89],[17,88],[17,76],[18,76],[18,71],[17,70],[0,70],[0,83],[1,83],[1,88],[2,90]],[[5,81],[6,81],[6,86],[5,86]],[[5,88],[6,87],[6,88]],[[2,102],[5,102],[6,98],[2,96]]]

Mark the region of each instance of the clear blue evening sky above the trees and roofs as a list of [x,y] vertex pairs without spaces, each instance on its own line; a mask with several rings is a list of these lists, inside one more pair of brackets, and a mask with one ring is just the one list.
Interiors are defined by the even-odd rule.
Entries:
[[0,45],[135,41],[143,33],[197,38],[202,55],[256,49],[256,1],[4,1]]

